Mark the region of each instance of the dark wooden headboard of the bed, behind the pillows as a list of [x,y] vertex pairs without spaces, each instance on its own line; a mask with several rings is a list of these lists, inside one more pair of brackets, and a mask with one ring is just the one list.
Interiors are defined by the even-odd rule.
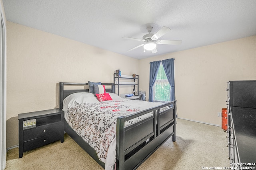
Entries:
[[[105,85],[106,92],[108,93],[114,93],[114,84],[113,83],[101,83],[102,85]],[[78,88],[79,89],[66,89],[64,90],[64,86],[69,86],[72,88]],[[82,89],[81,89],[82,87]],[[68,95],[73,93],[79,93],[79,92],[89,92],[89,86],[88,83],[65,83],[60,82],[60,109],[63,109],[63,100]]]

